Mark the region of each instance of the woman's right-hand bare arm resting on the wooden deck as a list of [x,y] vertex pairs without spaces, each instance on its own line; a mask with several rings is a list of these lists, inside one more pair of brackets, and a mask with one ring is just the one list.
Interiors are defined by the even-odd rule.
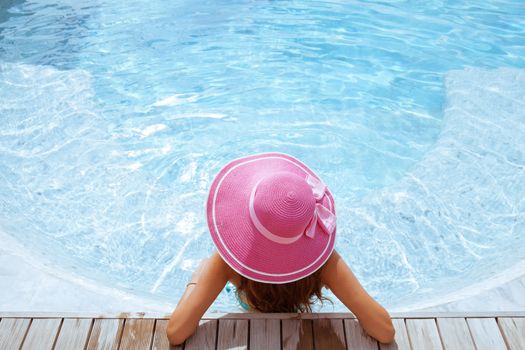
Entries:
[[321,273],[323,283],[357,317],[364,330],[381,343],[394,340],[388,312],[361,286],[348,265],[334,250]]

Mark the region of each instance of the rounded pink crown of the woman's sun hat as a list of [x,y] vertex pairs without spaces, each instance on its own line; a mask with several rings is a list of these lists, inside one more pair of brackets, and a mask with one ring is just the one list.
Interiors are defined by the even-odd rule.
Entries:
[[291,238],[303,232],[312,220],[315,198],[305,178],[281,172],[266,176],[259,182],[253,208],[268,231],[282,238]]

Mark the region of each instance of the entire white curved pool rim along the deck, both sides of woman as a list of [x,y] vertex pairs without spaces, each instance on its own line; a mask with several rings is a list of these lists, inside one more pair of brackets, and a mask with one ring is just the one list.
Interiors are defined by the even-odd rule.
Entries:
[[[0,312],[170,313],[176,306],[100,286],[31,255],[0,233]],[[525,262],[497,276],[424,303],[390,308],[404,311],[523,311]],[[218,310],[238,312],[238,310]],[[331,310],[328,310],[331,311]]]

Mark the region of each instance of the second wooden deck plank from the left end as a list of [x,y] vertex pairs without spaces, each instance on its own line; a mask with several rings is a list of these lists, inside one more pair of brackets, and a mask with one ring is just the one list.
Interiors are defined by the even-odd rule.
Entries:
[[40,318],[33,320],[27,331],[22,349],[51,349],[55,343],[62,319]]

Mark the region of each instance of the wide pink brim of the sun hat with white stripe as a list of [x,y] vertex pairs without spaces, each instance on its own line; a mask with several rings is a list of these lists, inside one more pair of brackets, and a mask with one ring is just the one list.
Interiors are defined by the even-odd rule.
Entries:
[[[328,235],[319,225],[313,238],[302,236],[291,244],[275,243],[255,228],[248,206],[251,190],[265,175],[281,171],[318,178],[287,154],[243,157],[219,171],[206,205],[210,234],[223,260],[242,276],[259,282],[288,283],[314,273],[328,260],[335,242],[335,230]],[[322,204],[335,214],[329,190]]]

